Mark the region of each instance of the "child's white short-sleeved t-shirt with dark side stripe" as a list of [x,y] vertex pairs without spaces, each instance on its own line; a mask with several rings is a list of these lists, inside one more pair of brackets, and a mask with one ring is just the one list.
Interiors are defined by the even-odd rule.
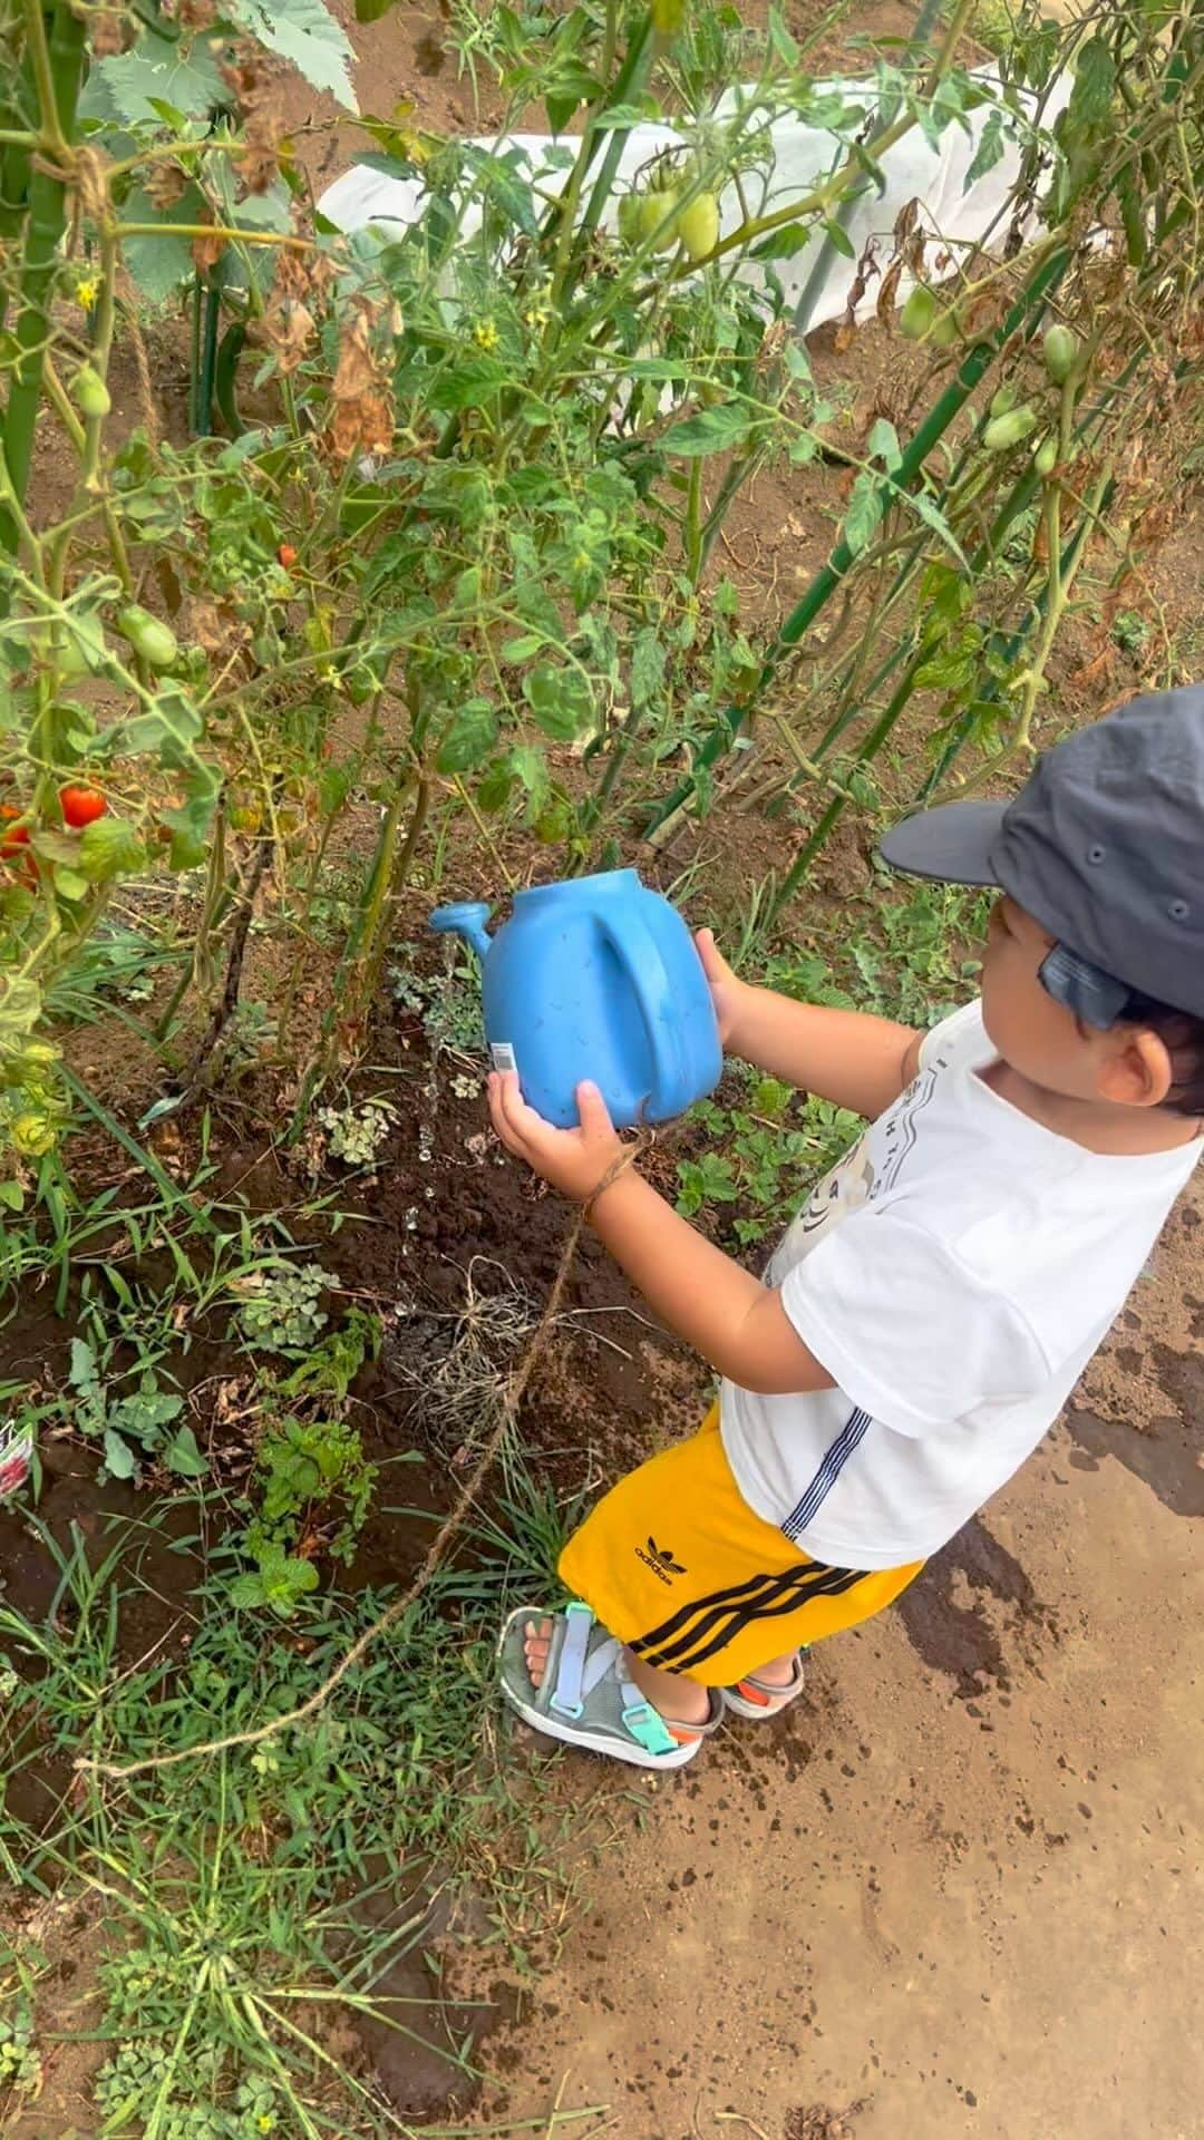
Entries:
[[945,1545],[1037,1447],[1120,1312],[1204,1141],[1103,1158],[983,1083],[981,1006],[812,1192],[767,1282],[836,1389],[722,1387],[739,1492],[812,1556]]

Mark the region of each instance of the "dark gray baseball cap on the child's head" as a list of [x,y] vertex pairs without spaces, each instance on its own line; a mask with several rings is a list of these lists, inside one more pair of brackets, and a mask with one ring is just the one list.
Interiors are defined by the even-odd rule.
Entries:
[[1133,995],[1204,1019],[1204,685],[1080,728],[1013,802],[906,817],[881,856],[1009,892],[1056,937],[1045,991],[1088,1025],[1116,1025]]

